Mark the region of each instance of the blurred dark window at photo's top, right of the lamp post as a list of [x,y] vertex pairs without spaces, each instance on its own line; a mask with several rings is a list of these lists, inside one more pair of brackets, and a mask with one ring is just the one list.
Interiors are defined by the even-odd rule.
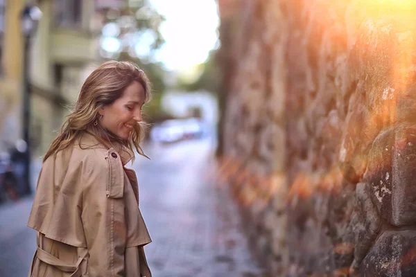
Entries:
[[55,1],[55,21],[56,24],[60,27],[81,26],[82,12],[82,0]]

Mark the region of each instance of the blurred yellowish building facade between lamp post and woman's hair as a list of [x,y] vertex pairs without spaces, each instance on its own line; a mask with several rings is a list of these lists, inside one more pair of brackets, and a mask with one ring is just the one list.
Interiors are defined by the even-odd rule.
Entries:
[[39,1],[43,12],[31,48],[31,138],[42,155],[55,136],[68,106],[76,99],[83,72],[96,60],[94,1]]

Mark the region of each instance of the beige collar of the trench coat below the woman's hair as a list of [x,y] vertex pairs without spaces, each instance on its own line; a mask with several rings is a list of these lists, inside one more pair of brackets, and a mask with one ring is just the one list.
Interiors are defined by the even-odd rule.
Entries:
[[112,142],[112,148],[108,148],[90,131],[86,131],[83,132],[83,134],[80,134],[78,143],[81,148],[101,148],[104,150],[114,150],[120,155],[121,163],[123,163],[123,166],[125,166],[129,161],[132,160],[133,157],[135,157],[134,152],[132,152],[132,150],[125,147],[124,145],[121,145],[121,143]]

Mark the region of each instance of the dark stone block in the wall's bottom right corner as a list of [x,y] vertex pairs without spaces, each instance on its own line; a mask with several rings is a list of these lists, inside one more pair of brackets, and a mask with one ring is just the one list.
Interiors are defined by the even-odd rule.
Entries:
[[361,276],[416,276],[416,231],[385,231],[363,260]]

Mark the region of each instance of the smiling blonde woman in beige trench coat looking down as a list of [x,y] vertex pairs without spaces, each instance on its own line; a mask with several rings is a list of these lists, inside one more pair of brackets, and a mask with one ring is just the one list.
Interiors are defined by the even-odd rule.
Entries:
[[124,167],[133,148],[146,157],[139,123],[149,98],[148,78],[130,62],[105,62],[85,80],[37,181],[29,276],[151,276],[137,178]]

